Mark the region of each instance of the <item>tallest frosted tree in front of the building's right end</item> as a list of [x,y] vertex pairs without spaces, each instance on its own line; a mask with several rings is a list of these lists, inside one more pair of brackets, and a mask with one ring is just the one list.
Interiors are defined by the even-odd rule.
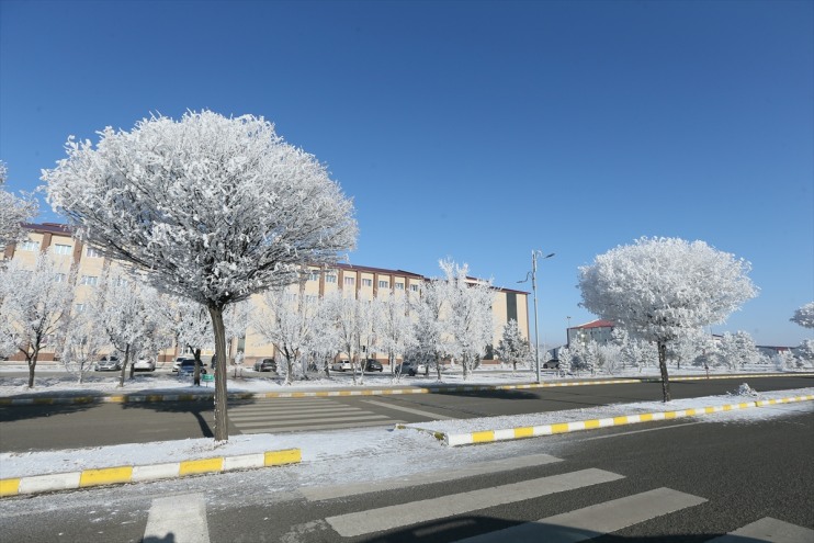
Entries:
[[466,276],[466,264],[457,265],[452,260],[441,260],[439,264],[444,273],[440,280],[445,306],[441,326],[450,337],[448,352],[461,362],[466,380],[491,343],[494,293],[490,282]]

